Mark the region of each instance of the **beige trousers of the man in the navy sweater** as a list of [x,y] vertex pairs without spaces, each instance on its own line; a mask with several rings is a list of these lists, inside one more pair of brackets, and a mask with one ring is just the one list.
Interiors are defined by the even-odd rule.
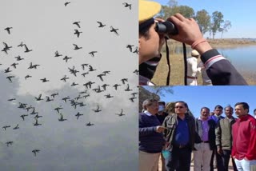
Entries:
[[139,171],[157,171],[160,153],[146,153],[139,151],[138,167]]

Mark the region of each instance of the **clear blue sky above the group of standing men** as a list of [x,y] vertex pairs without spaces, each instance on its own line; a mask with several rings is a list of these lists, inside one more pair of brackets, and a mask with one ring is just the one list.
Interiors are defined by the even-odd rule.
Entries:
[[[247,102],[250,113],[256,108],[256,86],[173,86],[174,93],[166,93],[162,101],[186,101],[195,117],[203,106],[214,110],[215,105],[231,105]],[[222,113],[225,116],[224,113]],[[235,113],[233,114],[235,117]]]

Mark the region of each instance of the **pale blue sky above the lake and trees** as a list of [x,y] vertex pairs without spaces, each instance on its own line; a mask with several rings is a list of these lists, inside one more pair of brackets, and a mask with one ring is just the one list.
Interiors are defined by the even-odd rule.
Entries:
[[[167,5],[169,0],[154,0],[162,5]],[[223,34],[223,38],[256,38],[256,2],[253,0],[237,1],[237,0],[214,0],[214,1],[198,1],[198,0],[178,0],[178,6],[190,6],[195,13],[198,10],[206,10],[211,15],[214,11],[222,12],[224,20],[229,20],[232,27],[227,33]],[[205,37],[209,34],[205,34]],[[215,38],[221,38],[221,34],[216,34]]]

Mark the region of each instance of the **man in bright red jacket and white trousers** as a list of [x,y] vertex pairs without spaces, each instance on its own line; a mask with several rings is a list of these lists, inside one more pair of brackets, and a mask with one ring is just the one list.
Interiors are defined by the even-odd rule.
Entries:
[[256,120],[250,116],[249,105],[246,102],[236,103],[234,110],[238,121],[232,128],[231,156],[239,171],[249,171],[251,165],[256,165]]

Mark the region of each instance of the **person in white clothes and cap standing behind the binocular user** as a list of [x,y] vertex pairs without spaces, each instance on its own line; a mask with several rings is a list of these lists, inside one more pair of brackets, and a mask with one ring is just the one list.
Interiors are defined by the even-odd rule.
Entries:
[[198,67],[198,58],[200,54],[197,50],[192,50],[191,57],[186,58],[187,62],[187,85],[198,85],[198,73],[201,72],[201,68]]

